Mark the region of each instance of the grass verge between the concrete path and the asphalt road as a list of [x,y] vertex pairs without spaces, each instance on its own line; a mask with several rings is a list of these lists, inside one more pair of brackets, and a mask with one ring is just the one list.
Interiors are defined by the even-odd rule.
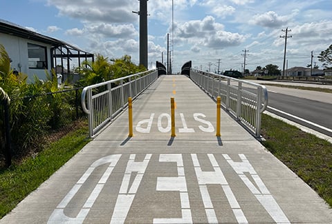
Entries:
[[264,146],[332,207],[332,144],[266,114]]

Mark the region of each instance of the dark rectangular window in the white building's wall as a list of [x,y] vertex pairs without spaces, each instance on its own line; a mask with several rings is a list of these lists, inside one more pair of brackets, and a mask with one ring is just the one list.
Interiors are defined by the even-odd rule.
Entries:
[[28,66],[35,69],[47,69],[46,47],[28,43]]

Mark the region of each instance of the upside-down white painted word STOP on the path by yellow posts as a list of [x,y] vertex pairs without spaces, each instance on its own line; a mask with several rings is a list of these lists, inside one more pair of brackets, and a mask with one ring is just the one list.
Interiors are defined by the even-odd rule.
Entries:
[[[192,133],[195,132],[193,127],[188,127],[185,115],[180,113],[181,123],[176,124],[179,133]],[[149,119],[139,121],[136,125],[136,131],[140,133],[150,133],[151,127],[154,124],[156,114],[151,114]],[[205,114],[194,113],[192,114],[194,120],[196,121],[196,130],[201,130],[202,132],[214,132],[214,127],[210,121],[205,119]],[[167,113],[160,114],[157,120],[157,127],[159,132],[167,133],[172,129],[171,116]],[[198,129],[197,129],[198,128]]]

